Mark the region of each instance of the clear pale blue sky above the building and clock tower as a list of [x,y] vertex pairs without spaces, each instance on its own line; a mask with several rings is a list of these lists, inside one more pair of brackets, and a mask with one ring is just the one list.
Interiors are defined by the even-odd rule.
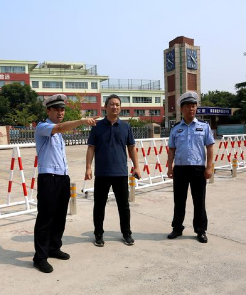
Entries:
[[11,0],[0,20],[0,59],[83,61],[164,89],[163,50],[186,36],[201,47],[202,92],[246,81],[245,0]]

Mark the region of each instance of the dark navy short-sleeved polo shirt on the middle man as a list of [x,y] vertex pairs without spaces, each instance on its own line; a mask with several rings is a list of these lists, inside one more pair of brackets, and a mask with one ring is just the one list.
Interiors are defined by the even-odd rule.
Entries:
[[87,144],[95,147],[95,176],[128,176],[125,146],[135,145],[128,123],[118,118],[112,125],[105,117],[92,127]]

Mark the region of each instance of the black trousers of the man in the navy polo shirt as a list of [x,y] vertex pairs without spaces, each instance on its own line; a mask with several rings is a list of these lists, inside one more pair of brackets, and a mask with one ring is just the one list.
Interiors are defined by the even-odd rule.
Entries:
[[112,185],[115,194],[118,212],[120,216],[120,226],[123,235],[131,234],[130,230],[130,207],[128,202],[128,177],[104,177],[96,176],[94,181],[94,235],[102,235],[105,207],[110,186]]

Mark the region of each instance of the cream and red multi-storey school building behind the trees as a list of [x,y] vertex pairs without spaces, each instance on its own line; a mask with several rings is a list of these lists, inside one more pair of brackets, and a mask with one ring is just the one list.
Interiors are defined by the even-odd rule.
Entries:
[[0,88],[18,82],[28,84],[43,100],[63,93],[69,100],[81,99],[82,114],[105,115],[106,98],[115,93],[122,101],[120,118],[161,123],[163,96],[158,80],[109,79],[96,65],[83,62],[0,60]]

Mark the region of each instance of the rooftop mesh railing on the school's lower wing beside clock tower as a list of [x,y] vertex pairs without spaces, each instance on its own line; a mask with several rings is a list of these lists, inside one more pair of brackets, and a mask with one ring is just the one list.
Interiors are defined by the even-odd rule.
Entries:
[[160,90],[159,80],[108,79],[100,83],[101,89]]

